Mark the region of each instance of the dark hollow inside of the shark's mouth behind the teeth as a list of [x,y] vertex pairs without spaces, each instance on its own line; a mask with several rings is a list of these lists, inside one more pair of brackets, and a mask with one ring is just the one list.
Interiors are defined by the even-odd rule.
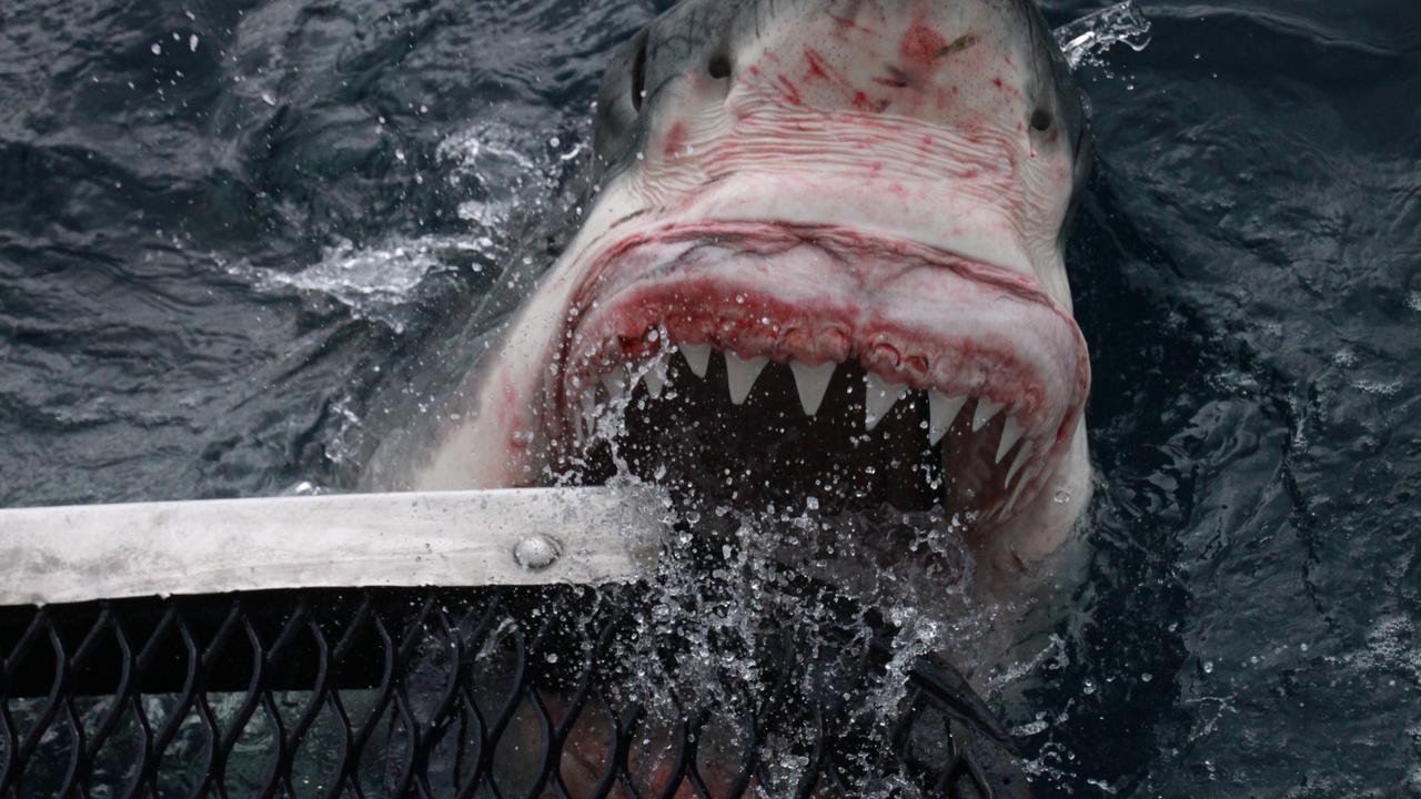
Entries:
[[963,523],[1003,499],[1006,463],[992,458],[1002,417],[972,432],[971,404],[931,445],[921,391],[907,392],[865,429],[865,375],[857,363],[836,368],[813,417],[783,364],[770,363],[740,405],[730,401],[719,353],[705,378],[679,355],[671,357],[666,377],[659,397],[637,382],[614,441],[588,445],[581,482],[607,482],[624,461],[638,478],[674,493],[736,508],[803,508],[813,498],[828,512],[942,508]]

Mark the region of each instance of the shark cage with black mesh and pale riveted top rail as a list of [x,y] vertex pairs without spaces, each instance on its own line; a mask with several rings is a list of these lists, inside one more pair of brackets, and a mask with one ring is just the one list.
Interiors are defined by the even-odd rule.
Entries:
[[655,508],[0,512],[0,796],[1030,795],[968,682],[872,607],[803,580],[753,636],[698,638]]

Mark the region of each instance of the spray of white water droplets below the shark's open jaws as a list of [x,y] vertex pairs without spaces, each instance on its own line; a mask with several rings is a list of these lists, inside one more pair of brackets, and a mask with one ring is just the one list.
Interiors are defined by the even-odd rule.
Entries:
[[[973,591],[976,564],[962,522],[941,508],[831,512],[813,496],[791,506],[746,508],[679,483],[664,465],[648,465],[655,473],[638,478],[625,456],[627,411],[676,401],[684,372],[668,370],[665,355],[628,365],[618,384],[637,385],[657,374],[659,398],[642,390],[608,391],[601,404],[584,408],[583,436],[585,446],[608,451],[615,472],[608,485],[637,486],[645,479],[661,493],[664,520],[675,530],[648,579],[648,613],[638,618],[627,648],[610,658],[635,664],[634,680],[617,698],[645,708],[648,726],[674,725],[686,705],[715,707],[729,719],[750,712],[746,702],[755,702],[783,665],[776,643],[786,638],[807,663],[858,657],[887,644],[875,648],[885,658],[881,674],[853,699],[845,695],[841,712],[844,724],[870,731],[887,729],[885,722],[897,718],[905,675],[921,655],[942,654],[963,671],[985,674],[1012,645],[998,640],[1017,633],[999,623],[1003,607]],[[826,685],[814,682],[820,677],[814,668],[797,675],[800,695],[823,695]],[[1003,682],[1009,680],[992,685]],[[725,762],[737,762],[733,744],[735,735],[726,735]],[[702,755],[719,761],[718,745],[702,738]],[[803,751],[803,741],[766,745],[759,754],[769,768],[762,795],[791,795],[804,768]],[[674,754],[668,744],[665,756]],[[853,795],[917,796],[895,775],[865,779]]]

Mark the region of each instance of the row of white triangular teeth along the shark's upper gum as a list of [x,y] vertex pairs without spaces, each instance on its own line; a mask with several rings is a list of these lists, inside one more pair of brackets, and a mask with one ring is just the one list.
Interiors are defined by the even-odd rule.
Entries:
[[[699,377],[705,378],[706,371],[710,365],[712,347],[709,344],[678,344],[675,351],[681,353],[685,358],[686,365],[691,371]],[[719,350],[716,350],[719,351]],[[769,358],[764,355],[753,358],[742,358],[730,351],[720,353],[725,357],[726,378],[729,382],[730,402],[736,405],[745,404],[750,397],[750,390],[755,388],[755,381],[769,365]],[[790,371],[794,374],[794,387],[799,391],[800,405],[804,408],[806,415],[816,415],[820,405],[824,401],[824,394],[828,391],[828,382],[834,377],[834,370],[838,367],[837,363],[828,361],[818,365],[807,365],[799,361],[790,361]],[[659,398],[662,390],[665,388],[665,368],[662,364],[649,363],[639,370],[637,378],[647,384],[647,394],[652,398]],[[615,367],[614,370],[604,372],[601,375],[601,384],[607,390],[610,398],[628,397],[630,384],[628,372],[624,367]],[[864,378],[865,392],[864,392],[864,425],[867,429],[872,431],[878,427],[878,422],[888,415],[892,407],[908,395],[908,387],[895,385],[884,381],[874,372],[868,372]],[[956,421],[958,414],[968,404],[971,398],[963,397],[948,397],[941,391],[928,391],[928,444],[936,445],[942,441],[942,436],[948,434],[952,424]],[[1003,404],[993,402],[986,397],[979,397],[976,402],[976,409],[972,414],[972,432],[978,432],[986,427],[1002,409]],[[585,428],[590,435],[597,429],[597,419],[601,417],[603,408],[597,402],[597,388],[588,388],[581,395],[581,412],[583,425],[580,425],[578,442],[581,442]],[[1007,414],[1006,421],[1002,424],[1002,438],[996,448],[996,463],[1000,463],[1003,458],[1022,442],[1026,429],[1017,421],[1015,415]],[[1022,472],[1022,466],[1032,456],[1032,441],[1022,442],[1020,448],[1016,451],[1016,458],[1006,472],[1006,488],[1012,489],[1012,481]],[[1006,503],[1006,509],[1010,509],[1016,503],[1016,498],[1022,488],[1030,482],[1030,478],[1023,475],[1019,485],[1015,486],[1010,499]]]

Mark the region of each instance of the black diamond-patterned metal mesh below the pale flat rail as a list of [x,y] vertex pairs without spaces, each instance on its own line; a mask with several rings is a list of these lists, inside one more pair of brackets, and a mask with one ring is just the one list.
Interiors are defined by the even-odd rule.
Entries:
[[696,705],[666,687],[674,712],[642,702],[638,658],[658,658],[635,645],[644,597],[307,590],[0,608],[0,796],[1027,795],[1009,736],[932,658],[892,718],[853,709],[894,680],[884,640],[809,647],[786,628],[743,695]]

